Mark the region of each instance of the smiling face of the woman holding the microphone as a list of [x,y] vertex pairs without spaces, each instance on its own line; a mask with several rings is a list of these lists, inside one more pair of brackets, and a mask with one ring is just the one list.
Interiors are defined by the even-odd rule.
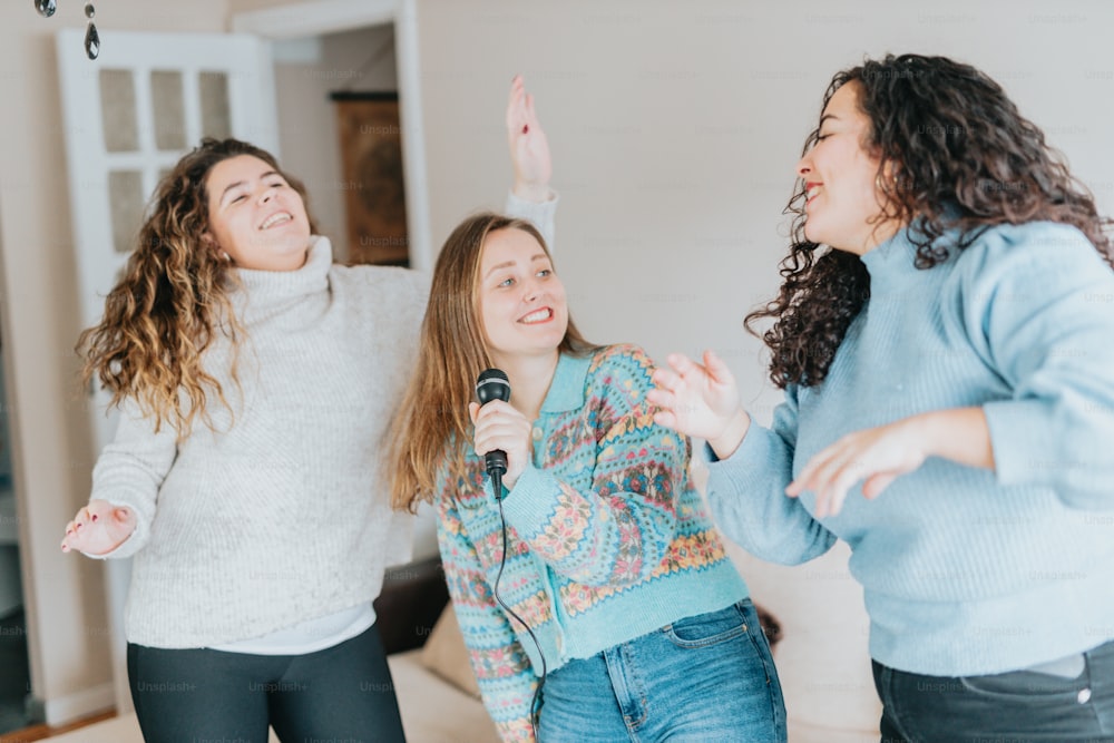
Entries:
[[479,317],[497,366],[522,356],[551,356],[568,327],[565,285],[529,233],[496,229],[480,256]]

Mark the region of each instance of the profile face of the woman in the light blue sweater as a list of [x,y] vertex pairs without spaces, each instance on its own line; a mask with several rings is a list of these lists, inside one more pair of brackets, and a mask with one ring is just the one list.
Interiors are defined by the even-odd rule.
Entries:
[[866,148],[870,126],[858,82],[841,87],[824,107],[819,138],[797,164],[807,189],[809,241],[862,255],[897,232],[896,223],[881,219],[880,159]]

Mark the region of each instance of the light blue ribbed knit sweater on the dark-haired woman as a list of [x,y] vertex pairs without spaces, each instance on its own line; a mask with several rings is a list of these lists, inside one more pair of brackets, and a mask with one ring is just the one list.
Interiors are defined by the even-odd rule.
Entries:
[[[710,465],[721,527],[783,564],[846,540],[870,653],[902,671],[999,673],[1114,638],[1114,272],[1051,223],[990,229],[927,271],[913,255],[901,233],[863,257],[871,297],[828,378]],[[813,493],[783,492],[846,433],[969,405],[996,471],[930,458],[820,520]]]

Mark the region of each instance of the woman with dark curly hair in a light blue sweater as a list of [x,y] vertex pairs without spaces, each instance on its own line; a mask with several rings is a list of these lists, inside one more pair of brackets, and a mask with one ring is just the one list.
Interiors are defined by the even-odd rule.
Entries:
[[670,356],[656,420],[707,441],[746,549],[850,545],[883,740],[1111,740],[1108,221],[940,57],[839,72],[797,173],[781,293],[747,317],[774,321],[772,428],[711,352]]

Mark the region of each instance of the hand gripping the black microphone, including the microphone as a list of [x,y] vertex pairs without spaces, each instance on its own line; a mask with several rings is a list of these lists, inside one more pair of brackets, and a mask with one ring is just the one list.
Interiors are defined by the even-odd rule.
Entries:
[[[476,381],[479,403],[468,405],[476,427],[472,443],[483,457],[488,476],[501,478],[508,490],[526,470],[530,457],[530,421],[510,404],[510,382],[498,369],[487,369]],[[496,497],[502,493],[497,490]]]

